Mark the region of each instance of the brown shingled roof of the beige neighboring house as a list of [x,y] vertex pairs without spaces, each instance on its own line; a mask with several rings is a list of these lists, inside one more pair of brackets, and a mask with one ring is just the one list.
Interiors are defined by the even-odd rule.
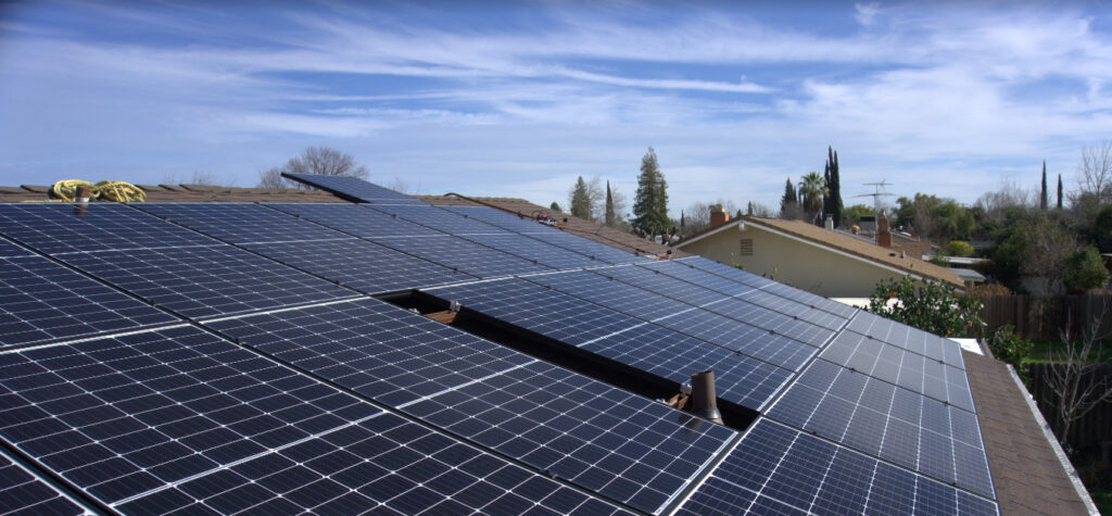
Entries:
[[764,219],[742,216],[741,218],[731,220],[722,226],[687,237],[676,247],[683,249],[685,246],[709,237],[711,235],[715,235],[727,229],[734,229],[738,224],[747,224],[762,229],[771,230],[773,232],[786,235],[816,247],[845,252],[858,259],[871,261],[883,267],[898,269],[903,272],[922,278],[943,281],[955,287],[964,287],[961,278],[959,278],[957,274],[953,270],[936,266],[929,261],[923,261],[922,259],[916,258],[913,254],[904,252],[904,256],[901,258],[897,249],[880,247],[860,238],[842,235],[837,231],[831,231],[802,220]]

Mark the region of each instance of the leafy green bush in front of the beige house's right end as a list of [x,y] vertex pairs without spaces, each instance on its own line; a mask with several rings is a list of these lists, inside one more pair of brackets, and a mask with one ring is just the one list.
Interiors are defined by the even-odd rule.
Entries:
[[904,276],[877,284],[866,310],[942,337],[962,337],[984,325],[981,307],[976,298],[956,295],[954,287]]

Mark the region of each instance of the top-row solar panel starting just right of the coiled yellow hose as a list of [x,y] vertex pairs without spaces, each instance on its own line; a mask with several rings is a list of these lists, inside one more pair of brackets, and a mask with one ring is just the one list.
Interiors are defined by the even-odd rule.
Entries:
[[142,204],[137,208],[229,244],[348,238],[318,224],[259,205],[234,202]]

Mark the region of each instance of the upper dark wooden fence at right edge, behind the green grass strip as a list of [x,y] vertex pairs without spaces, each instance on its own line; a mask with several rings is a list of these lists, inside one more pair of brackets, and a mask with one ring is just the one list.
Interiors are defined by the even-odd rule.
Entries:
[[995,331],[1004,325],[1012,325],[1015,331],[1029,339],[1056,340],[1064,328],[1070,335],[1081,337],[1081,331],[1101,315],[1105,302],[1109,311],[1102,321],[1099,335],[1112,338],[1112,301],[1105,296],[992,296],[981,298],[984,308],[981,319],[985,321],[980,336]]

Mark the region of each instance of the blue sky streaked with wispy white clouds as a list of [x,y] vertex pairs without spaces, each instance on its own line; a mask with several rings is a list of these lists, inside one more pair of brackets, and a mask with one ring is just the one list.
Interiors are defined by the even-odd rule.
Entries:
[[653,147],[678,217],[776,210],[828,146],[846,206],[973,204],[1043,160],[1071,190],[1109,139],[1106,0],[0,1],[3,186],[252,187],[327,146],[411,194],[567,206],[579,176],[632,199]]

